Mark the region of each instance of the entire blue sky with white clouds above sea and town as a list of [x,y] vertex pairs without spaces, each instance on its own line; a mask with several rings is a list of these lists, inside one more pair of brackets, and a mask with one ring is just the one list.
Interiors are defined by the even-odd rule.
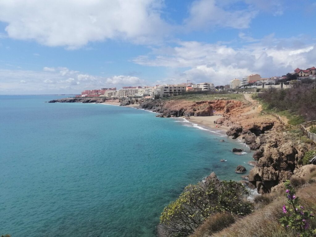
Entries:
[[316,66],[315,0],[1,0],[0,94],[228,84]]

